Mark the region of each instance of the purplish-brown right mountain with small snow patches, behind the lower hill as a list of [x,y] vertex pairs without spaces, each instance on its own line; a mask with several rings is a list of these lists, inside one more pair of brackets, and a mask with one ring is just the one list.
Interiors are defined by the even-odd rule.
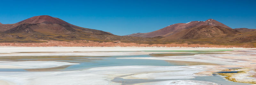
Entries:
[[180,31],[183,31],[183,30],[186,30],[189,28],[193,28],[193,27],[203,26],[203,25],[221,26],[221,27],[231,29],[227,25],[224,25],[214,19],[208,19],[206,21],[192,21],[192,22],[188,22],[188,23],[173,24],[173,25],[169,25],[169,26],[164,27],[157,31],[148,32],[148,33],[134,33],[131,35],[126,35],[126,36],[145,37],[145,38],[148,38],[148,37],[152,38],[152,37],[157,37],[157,36],[167,37],[167,36],[170,36],[177,32],[180,32]]

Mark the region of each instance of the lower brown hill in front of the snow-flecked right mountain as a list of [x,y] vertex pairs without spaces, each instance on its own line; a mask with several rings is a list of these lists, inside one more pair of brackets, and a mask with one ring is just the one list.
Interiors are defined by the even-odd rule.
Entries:
[[204,25],[177,32],[173,35],[164,37],[162,40],[213,38],[236,33],[240,32],[235,29],[225,28],[221,26]]

